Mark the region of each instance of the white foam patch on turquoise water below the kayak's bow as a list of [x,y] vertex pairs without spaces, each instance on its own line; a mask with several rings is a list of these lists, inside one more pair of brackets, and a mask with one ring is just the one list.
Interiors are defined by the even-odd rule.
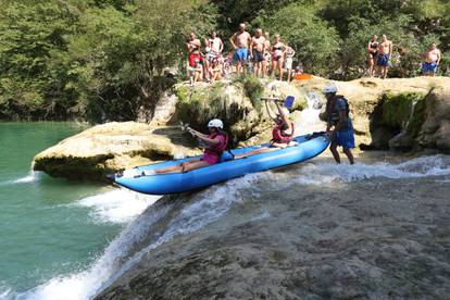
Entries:
[[84,198],[76,205],[91,208],[96,222],[128,223],[160,198],[121,188]]

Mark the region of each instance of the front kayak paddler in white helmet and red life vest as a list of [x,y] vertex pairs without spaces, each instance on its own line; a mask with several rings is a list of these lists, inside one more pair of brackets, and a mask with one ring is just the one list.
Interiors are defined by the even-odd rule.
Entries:
[[221,155],[225,151],[228,143],[228,135],[223,132],[223,122],[218,118],[214,118],[208,123],[208,128],[210,130],[209,135],[204,135],[192,128],[188,128],[187,130],[192,136],[198,137],[200,140],[204,141],[208,145],[207,149],[204,149],[202,158],[183,162],[173,166],[154,170],[154,174],[184,173],[218,163],[221,161]]

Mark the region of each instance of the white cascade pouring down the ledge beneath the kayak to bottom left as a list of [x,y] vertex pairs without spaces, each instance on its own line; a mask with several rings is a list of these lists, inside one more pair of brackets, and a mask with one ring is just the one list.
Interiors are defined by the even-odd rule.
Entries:
[[[252,174],[243,178],[227,182],[224,185],[214,186],[196,195],[193,201],[184,204],[178,211],[174,208],[175,203],[161,204],[157,202],[147,212],[132,222],[111,242],[103,255],[88,271],[72,274],[66,277],[53,278],[41,286],[20,295],[16,299],[90,299],[103,285],[108,286],[109,282],[121,276],[138,262],[142,255],[149,253],[159,245],[170,241],[175,236],[196,232],[217,220],[228,211],[235,201],[241,200],[241,191],[245,190],[247,193],[252,192],[252,184],[264,176],[270,175],[267,173]],[[121,198],[118,195],[116,196]],[[124,201],[130,200],[130,196],[127,193],[124,193],[123,197],[125,197],[123,198]],[[97,202],[92,198],[82,201],[89,203]],[[183,203],[183,201],[180,202]],[[174,211],[176,213],[173,216]],[[171,212],[171,221],[165,228],[158,228],[157,230],[154,226],[162,218],[168,217],[168,212]],[[137,247],[139,243],[147,242],[149,236],[153,236],[153,239],[143,249]]]

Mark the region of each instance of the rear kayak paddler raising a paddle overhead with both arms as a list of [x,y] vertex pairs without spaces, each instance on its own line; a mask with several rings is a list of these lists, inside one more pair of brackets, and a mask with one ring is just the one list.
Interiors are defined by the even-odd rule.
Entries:
[[275,102],[277,113],[274,113],[265,101],[265,109],[267,110],[268,116],[275,122],[275,126],[272,129],[272,140],[268,147],[261,147],[250,152],[235,155],[236,159],[243,159],[250,155],[279,150],[289,146],[293,146],[293,123],[288,120],[289,110],[282,108],[278,102]]

